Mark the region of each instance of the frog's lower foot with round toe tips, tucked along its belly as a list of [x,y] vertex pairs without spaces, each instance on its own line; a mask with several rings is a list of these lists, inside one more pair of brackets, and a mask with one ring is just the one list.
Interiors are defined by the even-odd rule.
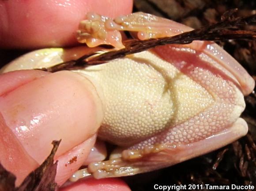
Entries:
[[175,148],[176,146],[156,144],[140,150],[124,150],[120,157],[118,157],[118,154],[115,156],[118,158],[112,158],[103,162],[94,162],[88,165],[87,169],[78,170],[70,180],[76,181],[90,175],[93,175],[96,179],[101,179],[106,177],[130,176],[140,173],[140,169],[147,168],[148,165],[151,165],[152,161],[148,160],[151,155],[163,152],[167,147],[171,149],[171,147]]

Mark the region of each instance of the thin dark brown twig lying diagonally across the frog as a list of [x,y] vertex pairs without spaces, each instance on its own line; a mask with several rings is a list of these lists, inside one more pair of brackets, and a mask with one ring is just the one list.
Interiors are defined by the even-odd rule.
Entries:
[[256,23],[256,14],[248,17],[233,18],[236,10],[230,10],[222,15],[222,21],[211,25],[203,26],[200,29],[194,29],[189,32],[181,33],[172,37],[162,37],[148,40],[128,40],[124,42],[125,48],[120,50],[108,51],[99,55],[84,55],[77,60],[63,62],[49,68],[39,70],[56,72],[60,70],[82,69],[89,65],[98,65],[113,59],[123,58],[126,55],[135,54],[166,44],[189,44],[194,40],[256,40],[256,31],[247,31],[241,29],[247,24]]

